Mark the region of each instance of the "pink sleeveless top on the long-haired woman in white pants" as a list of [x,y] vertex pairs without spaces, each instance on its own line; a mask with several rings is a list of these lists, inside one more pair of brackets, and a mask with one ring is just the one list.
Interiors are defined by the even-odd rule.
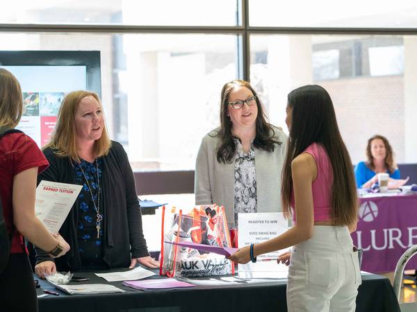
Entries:
[[[325,148],[320,144],[311,144],[304,153],[309,153],[316,160],[317,176],[313,181],[313,211],[314,221],[327,221],[332,219],[332,187],[333,187],[333,169]],[[291,207],[294,209],[294,191],[291,194]],[[293,220],[296,222],[295,211],[293,211]]]

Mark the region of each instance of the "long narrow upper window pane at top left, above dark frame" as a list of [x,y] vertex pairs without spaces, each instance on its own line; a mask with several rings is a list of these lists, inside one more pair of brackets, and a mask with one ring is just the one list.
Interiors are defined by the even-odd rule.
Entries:
[[0,23],[234,26],[237,8],[236,0],[19,0],[1,8]]

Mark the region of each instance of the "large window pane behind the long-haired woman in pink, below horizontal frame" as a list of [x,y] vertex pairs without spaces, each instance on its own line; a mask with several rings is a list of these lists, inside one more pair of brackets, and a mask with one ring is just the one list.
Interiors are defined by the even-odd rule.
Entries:
[[[398,36],[366,35],[252,35],[250,41],[251,81],[272,123],[286,128],[286,97],[291,89],[318,83],[332,96],[352,162],[366,157],[366,142],[375,134],[389,139],[397,162],[407,162],[411,142],[405,139],[404,124],[413,121],[405,112],[414,104],[406,98],[416,92],[410,84],[413,78],[403,73],[407,64],[413,68],[416,36],[407,37],[404,44]],[[387,46],[395,42],[402,45]],[[409,51],[409,63],[404,51]],[[256,58],[259,54],[267,62]]]

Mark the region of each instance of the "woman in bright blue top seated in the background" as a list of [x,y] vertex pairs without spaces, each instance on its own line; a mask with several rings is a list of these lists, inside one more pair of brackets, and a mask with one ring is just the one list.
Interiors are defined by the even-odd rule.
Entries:
[[374,135],[368,140],[366,146],[367,162],[359,162],[354,168],[354,176],[357,181],[357,187],[370,189],[372,185],[378,182],[377,173],[389,173],[391,184],[395,182],[398,186],[405,184],[408,179],[400,179],[400,171],[394,162],[393,149],[386,137]]

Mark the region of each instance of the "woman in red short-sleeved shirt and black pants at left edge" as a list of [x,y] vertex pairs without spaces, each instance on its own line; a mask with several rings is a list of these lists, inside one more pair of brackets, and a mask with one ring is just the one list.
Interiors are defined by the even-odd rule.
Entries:
[[[70,249],[35,217],[36,176],[48,166],[35,142],[15,130],[22,116],[22,90],[12,73],[0,68],[0,205],[10,242],[7,263],[0,267],[1,311],[38,311],[38,298],[23,236],[48,257]],[[1,214],[1,209],[0,209]],[[1,228],[0,223],[0,228]],[[0,245],[2,252],[6,243]]]

